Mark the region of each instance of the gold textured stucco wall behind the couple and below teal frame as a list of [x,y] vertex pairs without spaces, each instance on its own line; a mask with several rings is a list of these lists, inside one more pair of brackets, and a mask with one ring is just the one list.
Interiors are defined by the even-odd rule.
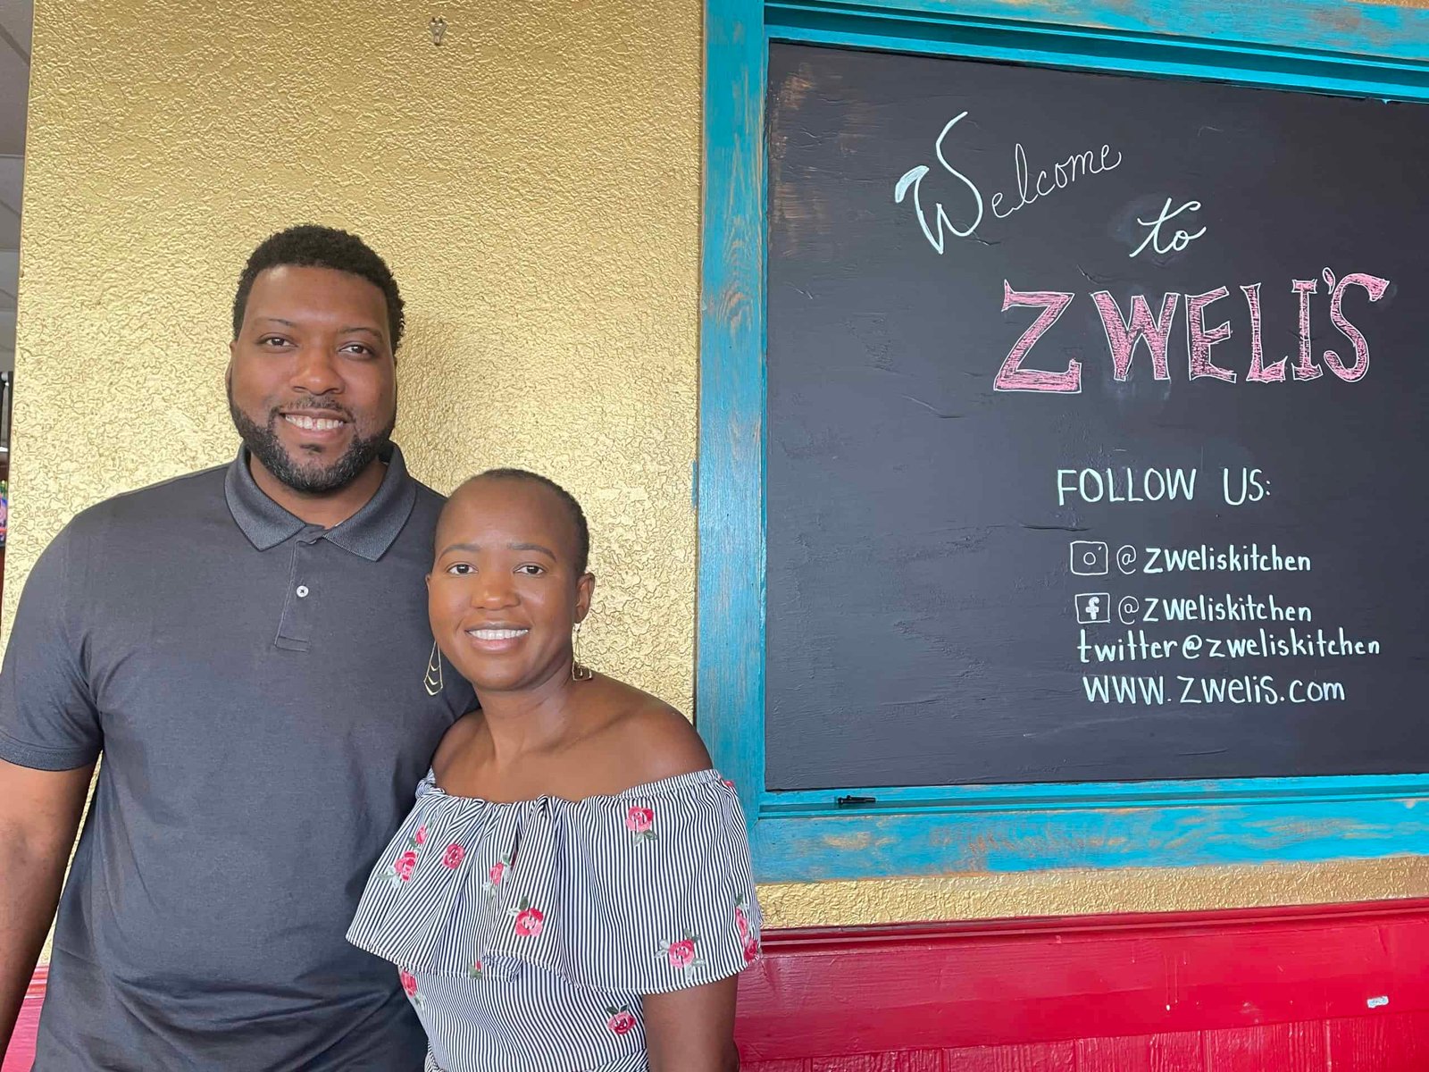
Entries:
[[[689,710],[699,0],[39,0],[33,49],[4,632],[76,510],[231,456],[233,282],[314,220],[402,283],[417,476],[569,486],[600,575],[586,660]],[[762,889],[779,926],[1423,893],[1410,858]]]

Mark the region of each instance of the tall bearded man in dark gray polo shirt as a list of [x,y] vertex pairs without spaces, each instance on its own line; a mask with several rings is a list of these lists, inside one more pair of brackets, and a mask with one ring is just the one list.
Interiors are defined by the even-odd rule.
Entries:
[[29,577],[0,673],[0,1049],[104,756],[36,1072],[422,1066],[392,966],[343,941],[473,706],[427,626],[442,499],[389,440],[402,329],[357,237],[274,234],[233,304],[237,459],[84,510]]

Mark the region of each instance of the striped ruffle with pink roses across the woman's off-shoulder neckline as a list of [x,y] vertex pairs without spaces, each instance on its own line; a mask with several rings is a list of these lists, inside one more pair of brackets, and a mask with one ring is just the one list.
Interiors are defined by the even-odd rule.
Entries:
[[429,770],[416,796],[347,933],[407,972],[499,979],[524,963],[656,993],[757,952],[745,818],[714,769],[512,802],[450,795]]

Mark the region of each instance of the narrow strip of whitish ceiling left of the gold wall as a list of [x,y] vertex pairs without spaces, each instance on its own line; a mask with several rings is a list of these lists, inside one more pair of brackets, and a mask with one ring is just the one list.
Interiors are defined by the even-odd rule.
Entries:
[[20,184],[30,91],[33,0],[0,0],[0,370],[14,367],[14,300],[20,287]]

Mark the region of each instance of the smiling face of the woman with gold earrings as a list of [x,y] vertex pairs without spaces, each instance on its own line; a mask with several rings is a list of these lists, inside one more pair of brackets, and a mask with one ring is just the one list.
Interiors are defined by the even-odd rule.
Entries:
[[570,675],[570,630],[596,579],[576,573],[576,526],[534,480],[462,487],[437,526],[427,577],[432,635],[479,690],[516,692]]

